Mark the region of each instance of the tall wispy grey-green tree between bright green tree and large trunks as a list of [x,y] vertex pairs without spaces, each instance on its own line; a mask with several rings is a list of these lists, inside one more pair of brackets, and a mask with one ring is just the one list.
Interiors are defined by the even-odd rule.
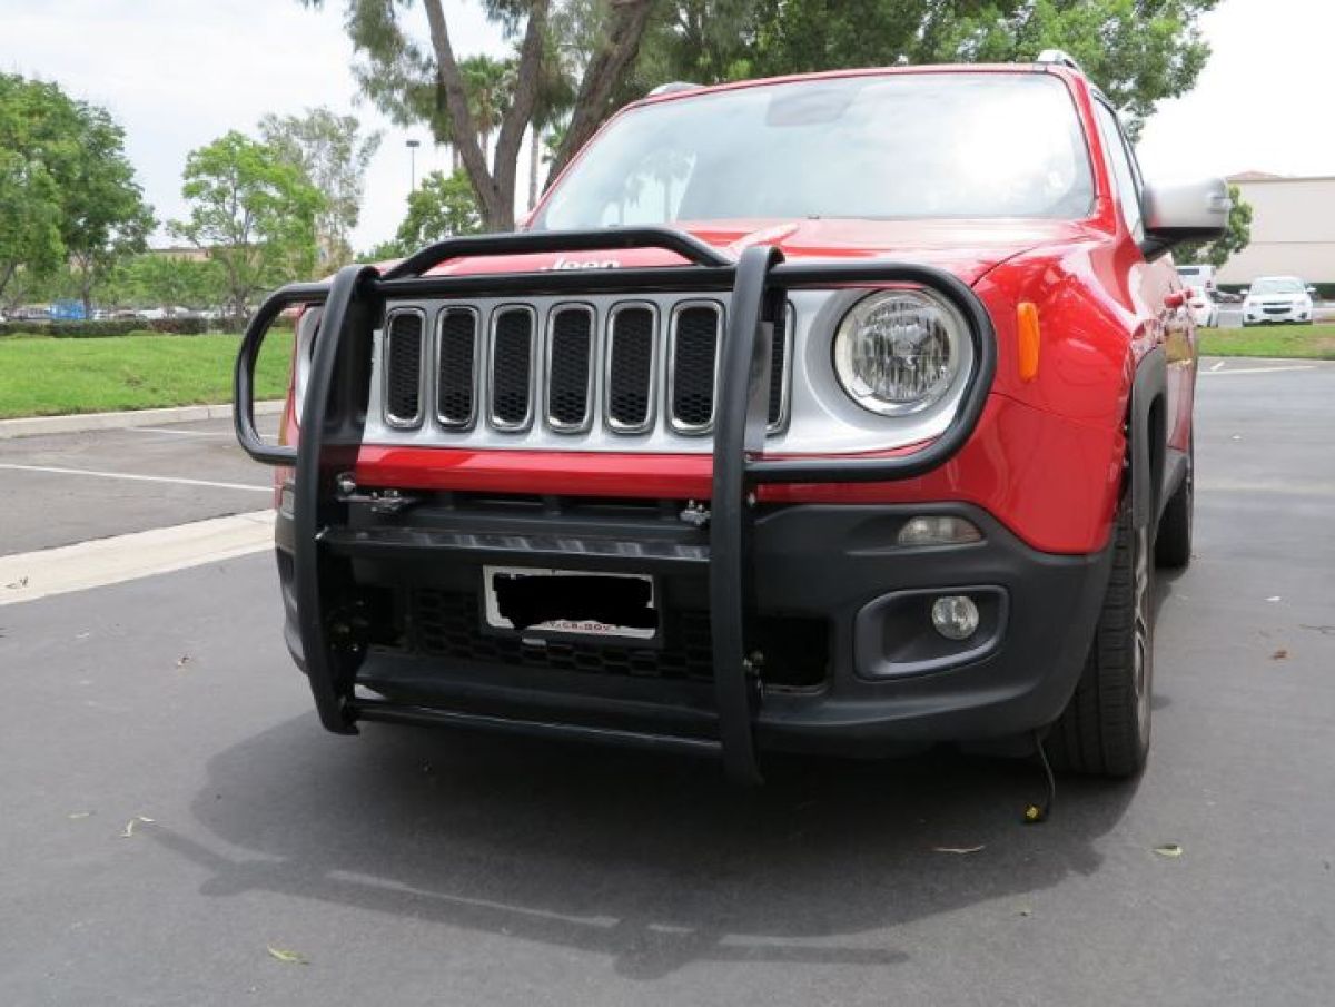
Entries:
[[348,235],[362,212],[366,166],[380,147],[380,134],[360,134],[356,116],[328,108],[308,108],[303,115],[266,115],[259,122],[263,140],[282,158],[300,168],[324,196],[315,218],[319,268],[331,272],[352,259]]

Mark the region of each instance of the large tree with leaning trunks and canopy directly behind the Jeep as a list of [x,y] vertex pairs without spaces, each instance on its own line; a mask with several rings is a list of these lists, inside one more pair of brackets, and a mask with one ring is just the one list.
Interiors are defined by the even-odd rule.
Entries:
[[522,37],[490,167],[442,3],[421,0],[430,45],[405,25],[417,3],[343,0],[363,93],[396,122],[427,122],[438,142],[453,143],[486,227],[509,230],[515,158],[553,60],[578,85],[549,178],[617,107],[669,80],[1027,61],[1045,48],[1075,56],[1135,132],[1156,102],[1195,83],[1210,55],[1199,17],[1219,0],[485,0],[489,16]]

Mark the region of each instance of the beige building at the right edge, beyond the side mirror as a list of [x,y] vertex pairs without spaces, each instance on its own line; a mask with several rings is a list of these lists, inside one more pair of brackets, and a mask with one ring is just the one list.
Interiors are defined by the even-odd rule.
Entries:
[[1252,206],[1251,244],[1215,282],[1246,286],[1258,276],[1300,276],[1335,292],[1335,176],[1291,178],[1246,171],[1228,179]]

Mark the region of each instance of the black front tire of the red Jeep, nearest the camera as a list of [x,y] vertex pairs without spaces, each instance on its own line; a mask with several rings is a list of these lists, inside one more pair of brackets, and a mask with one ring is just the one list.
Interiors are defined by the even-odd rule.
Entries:
[[1112,574],[1075,696],[1044,741],[1053,768],[1089,776],[1140,772],[1149,752],[1153,562],[1149,529],[1117,510]]

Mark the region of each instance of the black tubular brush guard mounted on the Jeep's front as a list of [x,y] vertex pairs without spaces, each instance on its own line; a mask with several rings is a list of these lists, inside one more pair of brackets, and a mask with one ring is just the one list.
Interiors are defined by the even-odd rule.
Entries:
[[[459,258],[611,248],[662,248],[690,266],[627,270],[546,271],[491,275],[425,275]],[[968,321],[975,367],[951,427],[921,450],[888,458],[765,458],[770,326],[794,287],[920,284],[952,303]],[[347,524],[335,479],[355,467],[364,429],[371,334],[395,298],[594,294],[613,291],[726,291],[728,331],[713,447],[709,525],[709,609],[714,649],[718,737],[678,737],[578,724],[485,716],[362,698],[354,689],[362,648],[343,638],[331,620],[336,578],[324,544],[330,529]],[[260,441],[254,418],[254,373],[260,346],[287,309],[324,305],[303,403],[299,446]],[[794,363],[796,366],[796,363]],[[383,275],[347,266],[330,283],[294,283],[260,306],[242,339],[235,370],[236,437],[254,459],[295,466],[294,502],[298,621],[306,672],[320,721],[355,733],[358,720],[454,724],[538,736],[583,737],[642,748],[721,755],[728,775],[757,783],[754,721],[760,677],[749,658],[748,613],[753,491],[764,482],[882,482],[926,473],[949,461],[977,425],[996,370],[992,321],[979,298],[956,276],[922,264],[876,260],[785,263],[778,248],[748,248],[737,262],[690,235],[669,228],[529,232],[453,238],[409,256]],[[546,560],[545,560],[546,562]]]

